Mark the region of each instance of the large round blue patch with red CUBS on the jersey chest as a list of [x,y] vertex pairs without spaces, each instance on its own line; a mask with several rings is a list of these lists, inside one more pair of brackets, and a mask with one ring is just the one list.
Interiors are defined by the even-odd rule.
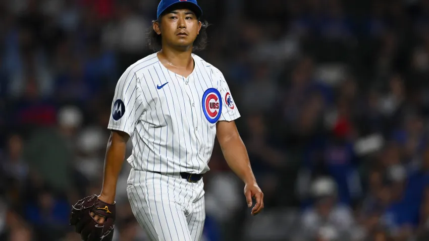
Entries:
[[222,96],[215,88],[207,89],[201,99],[202,112],[211,124],[215,124],[222,114]]

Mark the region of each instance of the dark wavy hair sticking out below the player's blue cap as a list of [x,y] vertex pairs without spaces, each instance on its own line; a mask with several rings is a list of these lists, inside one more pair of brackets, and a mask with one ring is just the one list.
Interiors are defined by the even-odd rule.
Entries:
[[[159,51],[162,49],[163,45],[162,45],[162,36],[161,34],[157,34],[154,30],[153,30],[153,23],[160,23],[161,22],[161,18],[164,15],[160,16],[159,19],[157,20],[153,20],[152,21],[152,25],[150,26],[150,28],[148,28],[147,30],[147,44],[149,45],[149,49],[153,50],[153,51]],[[198,19],[198,21],[200,21],[200,19]],[[195,38],[194,44],[192,46],[192,50],[193,51],[198,51],[198,50],[204,50],[205,47],[207,46],[207,32],[205,31],[208,27],[208,22],[207,21],[201,21],[201,29],[199,31],[199,34],[197,35],[197,37]]]

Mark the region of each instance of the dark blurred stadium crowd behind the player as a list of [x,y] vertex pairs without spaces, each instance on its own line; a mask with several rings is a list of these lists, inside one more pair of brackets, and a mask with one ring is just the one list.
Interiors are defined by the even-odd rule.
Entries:
[[[70,205],[100,191],[115,84],[150,53],[157,3],[1,1],[0,240],[80,240]],[[197,54],[231,87],[265,194],[251,217],[217,145],[204,240],[428,240],[429,1],[199,3]],[[129,168],[115,240],[146,240]]]

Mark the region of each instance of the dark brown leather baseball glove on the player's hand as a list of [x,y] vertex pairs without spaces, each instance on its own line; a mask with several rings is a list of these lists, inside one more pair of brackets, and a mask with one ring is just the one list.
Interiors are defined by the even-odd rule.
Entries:
[[[79,200],[72,206],[70,225],[76,227],[85,241],[111,241],[115,228],[115,203],[108,204],[98,199],[97,195]],[[105,218],[103,223],[98,223],[90,215],[93,212]]]

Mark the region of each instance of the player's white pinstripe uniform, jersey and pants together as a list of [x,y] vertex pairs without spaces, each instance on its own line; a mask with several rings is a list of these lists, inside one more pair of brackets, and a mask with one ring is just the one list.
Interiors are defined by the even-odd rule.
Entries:
[[141,59],[121,76],[112,101],[108,128],[128,133],[133,144],[127,160],[133,167],[128,199],[152,240],[201,238],[205,220],[202,179],[189,183],[179,173],[209,170],[216,123],[208,121],[208,107],[203,110],[204,103],[209,103],[204,93],[219,91],[218,121],[240,117],[235,104],[227,103],[231,93],[222,73],[197,55],[192,57],[195,68],[186,78],[165,68],[156,53]]

